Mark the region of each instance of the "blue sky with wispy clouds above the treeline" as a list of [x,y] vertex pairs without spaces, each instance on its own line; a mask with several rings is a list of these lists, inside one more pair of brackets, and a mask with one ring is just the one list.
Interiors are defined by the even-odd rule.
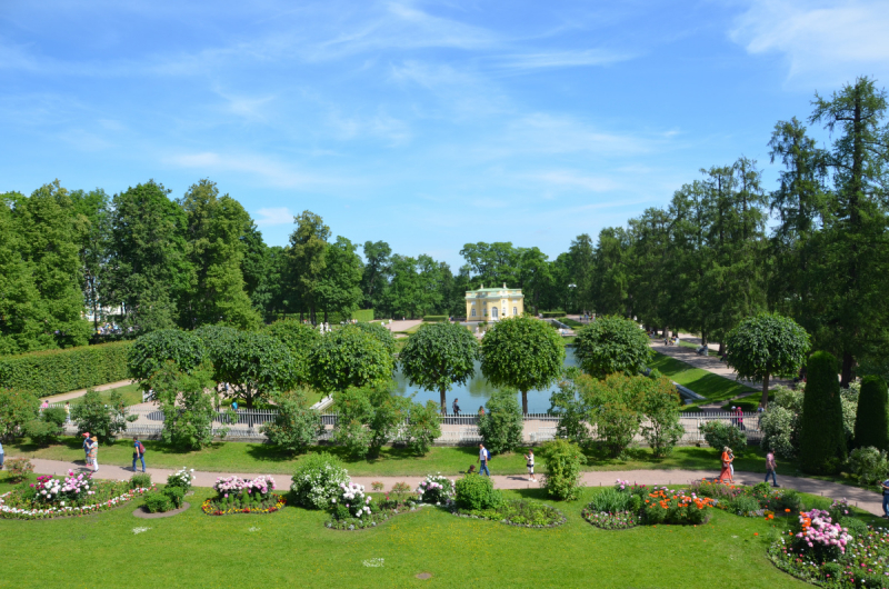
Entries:
[[[200,178],[271,244],[556,257],[889,81],[889,2],[0,2],[0,191]],[[820,130],[817,137],[826,140]]]

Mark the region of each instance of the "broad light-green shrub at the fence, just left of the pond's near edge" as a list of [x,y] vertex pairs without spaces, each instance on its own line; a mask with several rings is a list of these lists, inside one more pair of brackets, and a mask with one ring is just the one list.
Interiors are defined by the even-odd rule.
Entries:
[[333,440],[351,456],[376,458],[387,442],[398,435],[407,419],[411,401],[393,395],[389,388],[350,388],[333,393],[338,413]]

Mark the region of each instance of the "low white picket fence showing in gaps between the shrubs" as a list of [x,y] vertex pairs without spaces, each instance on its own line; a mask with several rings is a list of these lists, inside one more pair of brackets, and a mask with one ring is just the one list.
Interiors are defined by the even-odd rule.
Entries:
[[[61,407],[62,403],[51,403],[50,407]],[[229,411],[219,411],[213,420],[213,436],[221,436],[222,430],[227,430],[226,439],[249,439],[264,440],[266,436],[261,432],[261,426],[268,421],[273,421],[278,411],[274,409],[238,409],[237,417],[232,419]],[[130,436],[141,436],[146,438],[159,437],[163,429],[163,411],[154,408],[130,409],[130,415],[137,416],[136,421],[127,423],[127,433]],[[481,436],[478,430],[477,415],[443,415],[440,418],[441,437],[436,443],[442,446],[479,443]],[[332,429],[337,426],[338,416],[336,413],[324,413],[321,416],[322,433],[318,437],[319,441],[330,441]],[[737,416],[726,411],[710,412],[682,412],[679,423],[685,428],[685,435],[679,443],[685,446],[703,442],[703,435],[700,426],[708,421],[723,421],[738,426],[747,436],[748,442],[758,443],[762,439],[759,430],[758,413],[743,413]],[[523,438],[528,443],[540,443],[556,438],[559,418],[548,413],[528,413],[525,416]],[[645,422],[643,422],[645,425]],[[66,432],[73,435],[77,430],[73,425],[66,426]],[[593,439],[597,437],[596,428],[590,427]],[[400,437],[399,437],[400,438]],[[396,440],[400,441],[399,439]],[[633,439],[637,443],[645,443],[641,435]]]

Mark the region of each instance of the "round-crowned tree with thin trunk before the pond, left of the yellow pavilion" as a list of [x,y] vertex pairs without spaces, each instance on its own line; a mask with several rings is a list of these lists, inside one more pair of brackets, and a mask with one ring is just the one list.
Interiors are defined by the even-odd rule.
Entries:
[[476,373],[476,337],[459,323],[428,323],[401,350],[401,371],[412,386],[441,395],[441,413],[448,412],[447,393]]

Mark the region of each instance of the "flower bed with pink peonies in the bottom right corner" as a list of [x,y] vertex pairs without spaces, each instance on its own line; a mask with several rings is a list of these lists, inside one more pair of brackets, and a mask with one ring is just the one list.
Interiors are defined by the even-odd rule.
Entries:
[[[846,523],[846,525],[845,525]],[[825,587],[889,587],[889,530],[830,512],[800,511],[795,529],[769,547],[776,567]]]

